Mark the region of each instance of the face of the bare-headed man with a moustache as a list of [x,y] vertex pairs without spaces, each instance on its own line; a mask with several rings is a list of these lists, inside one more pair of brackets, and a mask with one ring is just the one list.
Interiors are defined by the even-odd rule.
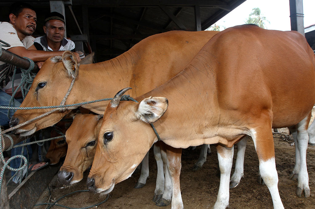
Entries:
[[24,8],[22,12],[15,17],[14,26],[18,32],[25,36],[30,36],[36,29],[36,21],[37,17],[35,11]]

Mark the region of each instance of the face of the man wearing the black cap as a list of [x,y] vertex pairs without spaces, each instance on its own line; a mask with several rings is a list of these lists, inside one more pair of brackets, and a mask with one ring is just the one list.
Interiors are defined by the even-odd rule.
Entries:
[[61,20],[49,20],[43,29],[48,41],[61,42],[65,36],[65,24]]

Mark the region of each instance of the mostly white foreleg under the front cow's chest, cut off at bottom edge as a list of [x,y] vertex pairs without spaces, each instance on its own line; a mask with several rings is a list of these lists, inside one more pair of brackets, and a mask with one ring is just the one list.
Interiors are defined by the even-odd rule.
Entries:
[[229,206],[229,182],[233,163],[234,146],[228,148],[217,145],[216,148],[221,176],[218,197],[213,209],[225,209]]

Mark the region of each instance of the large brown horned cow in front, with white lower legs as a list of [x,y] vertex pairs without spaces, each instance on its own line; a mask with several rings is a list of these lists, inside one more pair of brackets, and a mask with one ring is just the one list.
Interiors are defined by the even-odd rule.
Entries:
[[[260,173],[274,208],[284,208],[278,192],[271,129],[297,125],[297,146],[306,156],[306,124],[315,103],[314,69],[312,49],[297,32],[264,30],[254,25],[220,32],[178,75],[136,98],[142,100],[140,103],[119,104],[128,88],[115,96],[104,113],[88,188],[106,194],[128,178],[157,141],[149,124],[156,121],[161,140],[174,147],[167,151],[172,208],[183,208],[181,149],[176,148],[217,145],[221,179],[214,208],[222,209],[229,205],[233,144],[244,135],[253,138]],[[301,163],[298,190],[304,190],[307,196],[306,159],[301,161],[305,163]]]

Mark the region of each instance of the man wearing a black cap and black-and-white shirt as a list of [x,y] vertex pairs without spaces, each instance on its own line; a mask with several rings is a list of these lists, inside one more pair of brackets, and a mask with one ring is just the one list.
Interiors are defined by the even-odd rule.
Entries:
[[[74,42],[64,38],[65,36],[65,18],[58,12],[51,12],[46,16],[43,26],[45,36],[37,37],[34,40],[34,46],[37,50],[43,51],[74,51]],[[80,53],[79,53],[80,54]],[[83,53],[80,58],[84,57]]]

